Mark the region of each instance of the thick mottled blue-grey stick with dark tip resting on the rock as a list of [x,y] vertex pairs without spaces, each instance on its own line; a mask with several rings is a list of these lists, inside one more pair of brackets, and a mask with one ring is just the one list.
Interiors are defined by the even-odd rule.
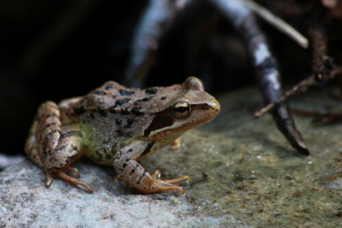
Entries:
[[[260,29],[252,10],[241,0],[210,0],[233,23],[235,28],[244,35],[248,52],[252,56],[252,63],[263,90],[265,102],[276,102],[282,96],[280,74],[276,58],[270,51],[265,33]],[[278,129],[287,138],[289,143],[301,154],[309,155],[300,132],[287,106],[280,104],[273,111],[274,121]]]

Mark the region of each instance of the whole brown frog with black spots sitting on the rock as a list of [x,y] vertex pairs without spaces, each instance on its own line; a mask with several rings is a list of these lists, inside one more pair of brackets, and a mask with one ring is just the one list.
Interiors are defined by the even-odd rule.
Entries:
[[86,96],[42,103],[25,152],[46,173],[47,188],[57,176],[92,193],[71,166],[86,156],[98,165],[113,166],[120,180],[141,193],[184,194],[177,184],[190,177],[161,180],[158,170],[150,174],[138,160],[210,122],[219,112],[220,103],[194,76],[181,84],[147,89],[109,81]]

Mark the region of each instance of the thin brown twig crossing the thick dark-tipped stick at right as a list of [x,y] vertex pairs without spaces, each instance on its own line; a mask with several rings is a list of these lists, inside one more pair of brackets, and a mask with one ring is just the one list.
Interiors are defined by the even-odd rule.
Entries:
[[[335,76],[341,73],[342,73],[342,67],[336,68],[332,70],[330,74],[326,76],[326,79],[327,80],[333,79]],[[304,93],[308,89],[308,87],[311,87],[312,85],[315,85],[315,84],[317,84],[315,76],[313,75],[309,76],[307,79],[300,81],[297,85],[293,86],[291,89],[286,91],[285,94],[281,96],[277,102],[272,102],[270,104],[267,104],[265,107],[257,111],[257,113],[254,114],[254,117],[256,118],[261,117],[263,114],[276,108],[276,106],[279,106],[280,104],[284,103],[287,99],[289,99],[289,97],[299,92]]]

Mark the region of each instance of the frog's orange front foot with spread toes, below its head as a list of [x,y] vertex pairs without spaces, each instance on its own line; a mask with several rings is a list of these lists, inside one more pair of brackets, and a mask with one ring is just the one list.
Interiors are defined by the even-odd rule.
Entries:
[[170,179],[170,180],[159,180],[157,179],[160,176],[159,170],[156,170],[153,175],[151,175],[152,179],[150,179],[150,190],[152,191],[147,191],[146,193],[163,193],[169,190],[179,190],[179,192],[183,195],[185,191],[181,186],[178,185],[171,185],[171,184],[178,184],[180,182],[185,182],[191,180],[190,177],[187,175],[183,175],[182,177],[178,177],[175,179]]

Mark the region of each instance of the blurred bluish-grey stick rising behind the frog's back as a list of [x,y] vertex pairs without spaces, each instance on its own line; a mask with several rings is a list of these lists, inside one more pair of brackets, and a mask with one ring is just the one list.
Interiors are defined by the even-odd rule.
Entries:
[[131,56],[124,75],[124,85],[141,87],[144,76],[154,61],[163,34],[179,13],[192,0],[150,0],[135,29]]

